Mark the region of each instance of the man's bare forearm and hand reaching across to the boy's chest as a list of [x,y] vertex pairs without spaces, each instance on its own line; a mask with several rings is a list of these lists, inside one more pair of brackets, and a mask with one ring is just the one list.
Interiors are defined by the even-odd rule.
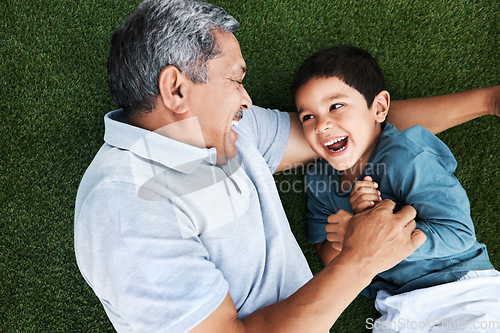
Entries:
[[354,216],[342,252],[289,298],[239,320],[228,294],[192,332],[326,332],[376,274],[424,243],[415,210],[405,206],[394,214],[394,206],[384,200]]

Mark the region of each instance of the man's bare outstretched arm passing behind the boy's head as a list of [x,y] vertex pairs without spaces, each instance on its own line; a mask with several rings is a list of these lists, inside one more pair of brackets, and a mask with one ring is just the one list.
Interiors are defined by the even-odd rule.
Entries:
[[[436,134],[488,114],[500,115],[500,86],[392,101],[387,121],[399,130],[420,125]],[[290,113],[290,121],[286,150],[275,172],[299,167],[318,157],[304,137],[296,112]]]

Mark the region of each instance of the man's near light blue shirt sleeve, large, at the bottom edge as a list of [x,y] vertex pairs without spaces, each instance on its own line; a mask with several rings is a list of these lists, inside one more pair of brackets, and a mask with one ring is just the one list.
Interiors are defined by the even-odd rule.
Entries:
[[118,332],[188,331],[228,284],[189,217],[168,200],[141,200],[133,186],[110,182],[87,198],[75,226],[78,265]]

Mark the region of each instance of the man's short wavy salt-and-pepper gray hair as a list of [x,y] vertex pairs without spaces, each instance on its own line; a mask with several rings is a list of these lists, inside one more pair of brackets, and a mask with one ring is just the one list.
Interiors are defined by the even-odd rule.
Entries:
[[146,0],[111,37],[108,86],[127,113],[148,113],[160,94],[163,68],[177,67],[193,82],[208,81],[208,61],[220,50],[214,32],[239,23],[222,8],[198,0]]

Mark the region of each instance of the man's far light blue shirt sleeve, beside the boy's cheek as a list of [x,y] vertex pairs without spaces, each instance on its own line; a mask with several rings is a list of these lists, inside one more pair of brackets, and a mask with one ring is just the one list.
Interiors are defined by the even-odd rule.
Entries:
[[274,173],[285,153],[290,135],[288,113],[252,106],[250,110],[244,111],[240,123],[238,132],[243,132],[251,138]]

